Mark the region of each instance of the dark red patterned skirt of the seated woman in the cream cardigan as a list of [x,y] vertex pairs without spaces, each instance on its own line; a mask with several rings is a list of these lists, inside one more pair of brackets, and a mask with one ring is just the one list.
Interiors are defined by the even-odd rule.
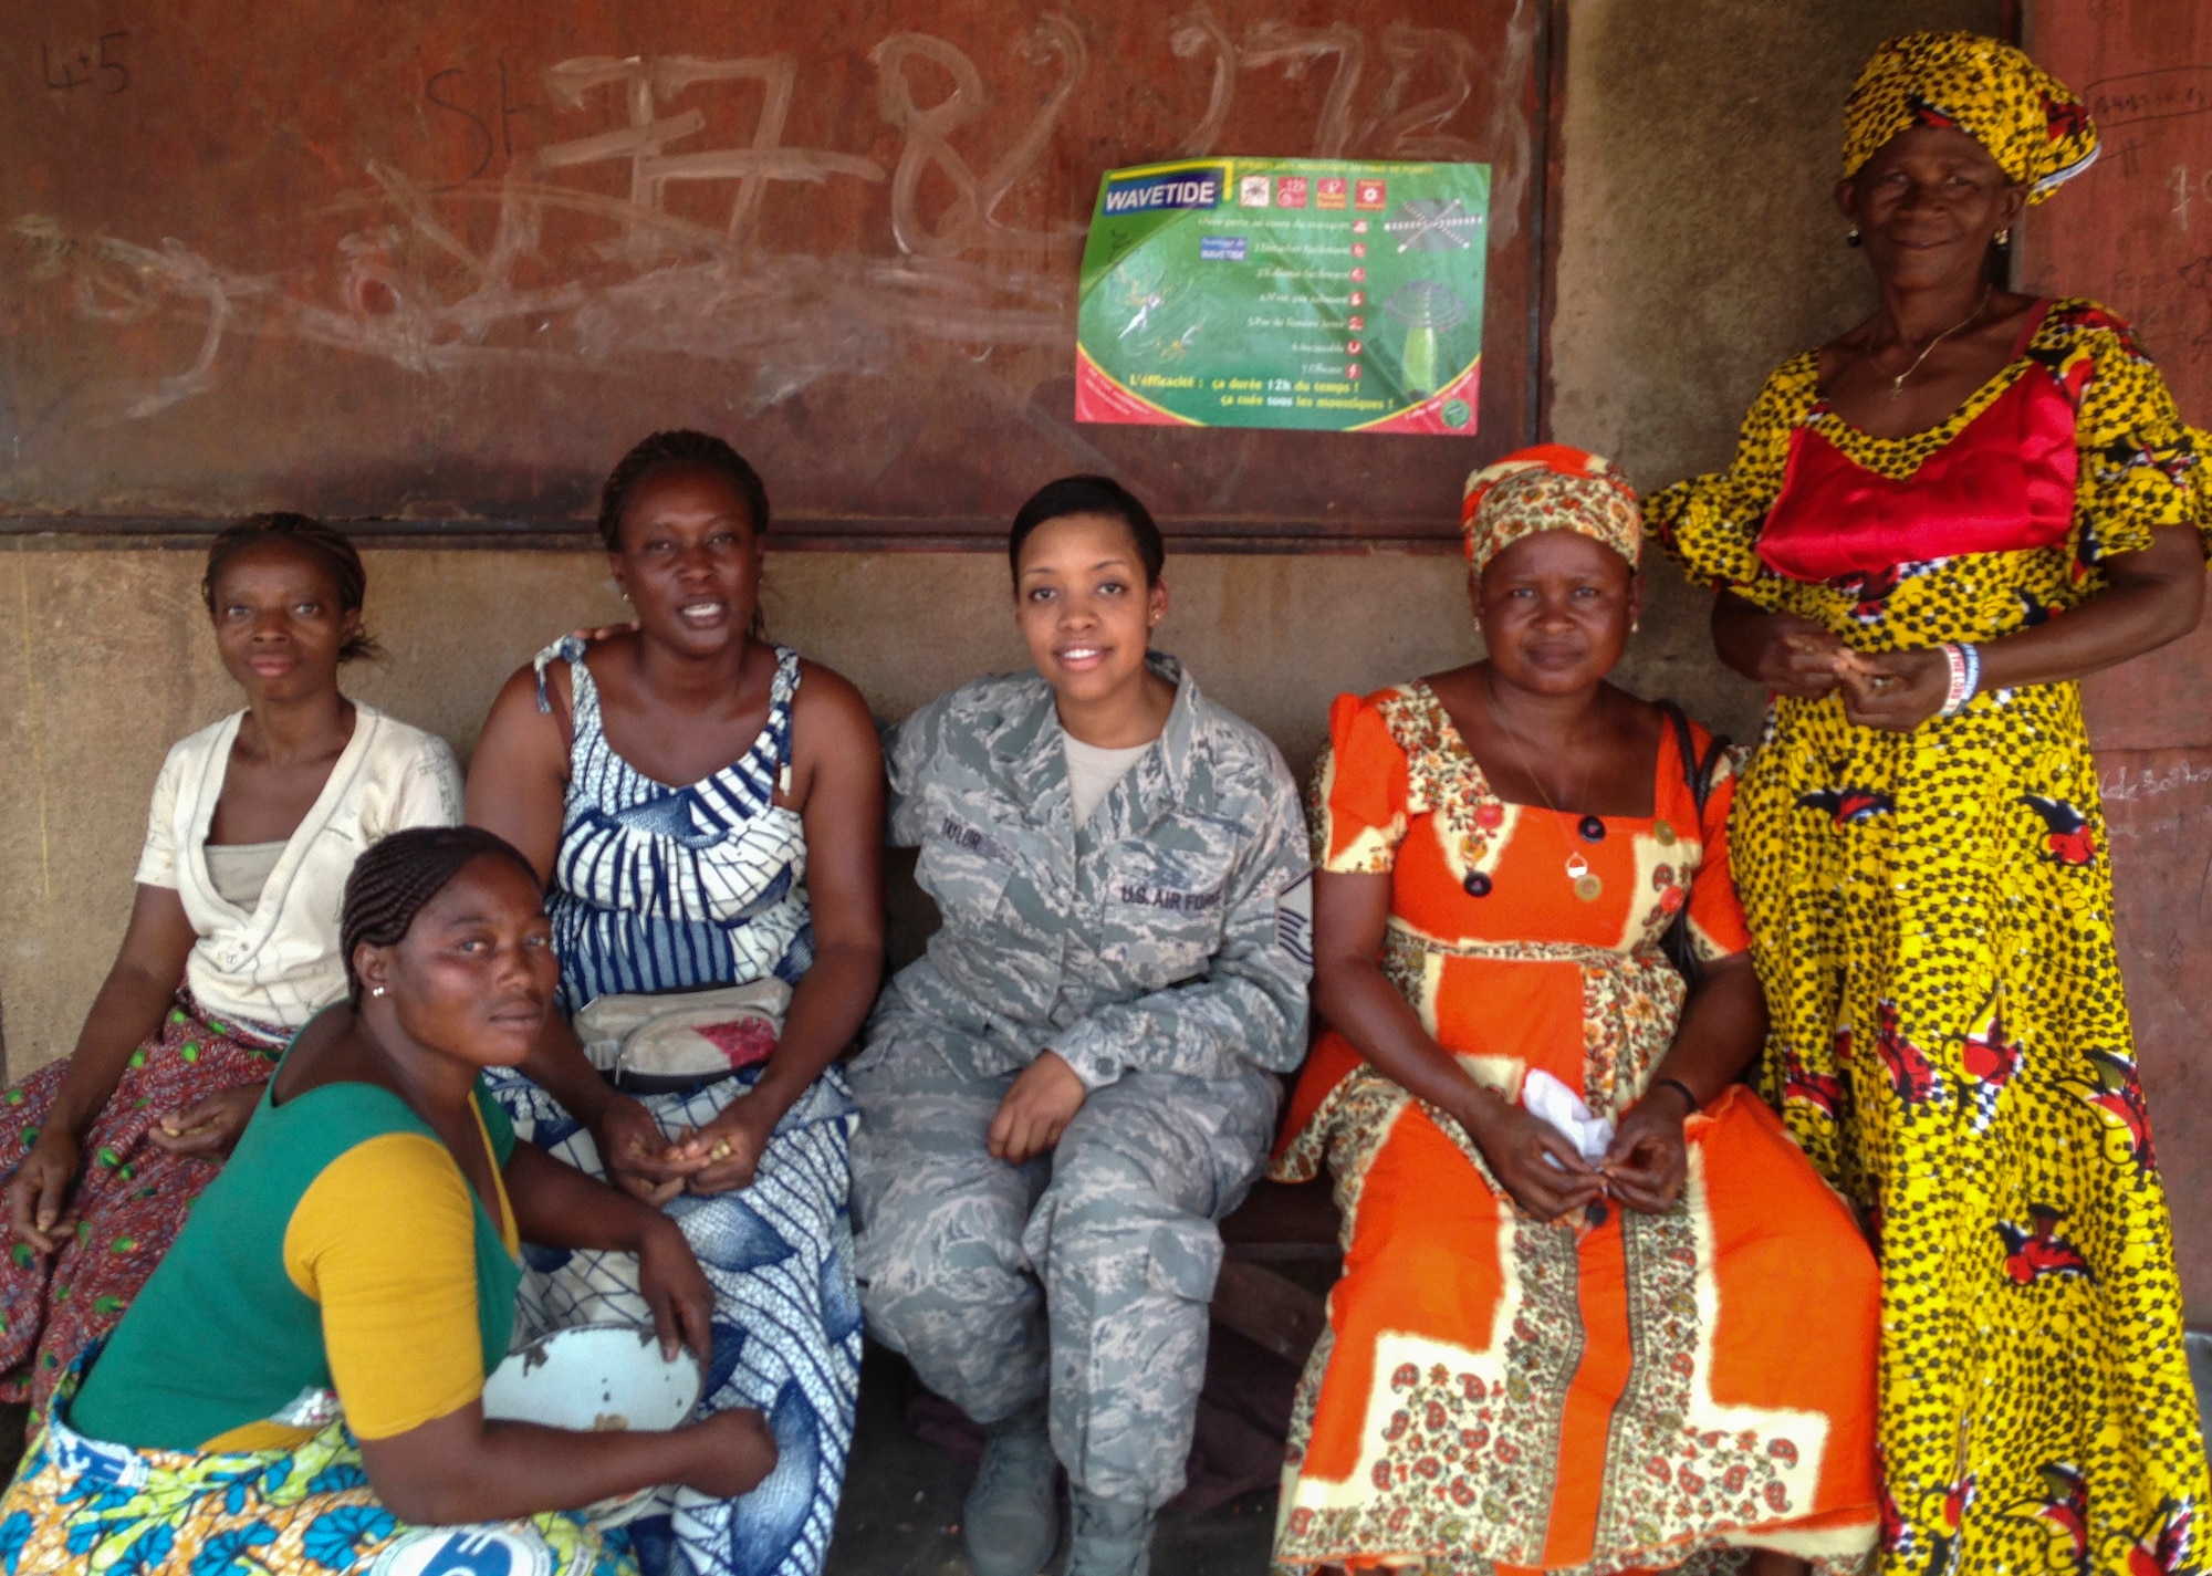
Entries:
[[[0,1401],[44,1408],[55,1381],[168,1253],[192,1200],[221,1162],[170,1155],[146,1133],[170,1111],[268,1082],[292,1031],[208,1016],[179,989],[161,1027],[131,1054],[122,1082],[84,1136],[69,1209],[75,1235],[38,1253],[0,1215]],[[69,1062],[51,1062],[0,1096],[0,1186],[29,1158]]]

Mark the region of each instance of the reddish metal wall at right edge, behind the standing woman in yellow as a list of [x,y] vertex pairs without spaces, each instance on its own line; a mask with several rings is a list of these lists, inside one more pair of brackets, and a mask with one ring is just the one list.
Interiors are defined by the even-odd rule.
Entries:
[[[2212,7],[2044,0],[2026,46],[2088,100],[2099,162],[2035,210],[2024,288],[2135,323],[2212,425]],[[2190,1321],[2212,1326],[2212,626],[2084,686],[2119,947]]]

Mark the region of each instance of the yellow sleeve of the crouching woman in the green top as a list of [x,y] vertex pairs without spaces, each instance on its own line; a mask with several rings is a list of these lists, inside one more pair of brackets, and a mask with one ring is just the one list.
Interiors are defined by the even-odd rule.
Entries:
[[434,1138],[383,1133],[332,1160],[292,1211],[283,1266],[323,1306],[330,1377],[361,1439],[484,1392],[476,1202]]

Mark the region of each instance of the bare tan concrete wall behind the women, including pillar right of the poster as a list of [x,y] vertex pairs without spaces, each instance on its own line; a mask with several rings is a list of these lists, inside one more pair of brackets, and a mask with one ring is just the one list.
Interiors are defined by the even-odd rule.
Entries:
[[[1867,305],[1827,204],[1858,62],[1889,33],[1995,29],[1997,13],[1997,0],[1577,0],[1555,434],[1644,485],[1721,463],[1765,370]],[[1020,662],[993,556],[781,553],[770,576],[774,633],[854,677],[883,715]],[[9,1078],[69,1049],[100,985],[164,748],[237,704],[197,578],[188,553],[0,558]],[[1336,691],[1475,653],[1453,558],[1177,558],[1168,578],[1161,646],[1294,766]],[[507,671],[617,615],[595,553],[372,553],[369,620],[394,655],[352,691],[467,750]],[[1756,695],[1710,660],[1705,598],[1663,564],[1621,682],[1736,735],[1756,717]]]

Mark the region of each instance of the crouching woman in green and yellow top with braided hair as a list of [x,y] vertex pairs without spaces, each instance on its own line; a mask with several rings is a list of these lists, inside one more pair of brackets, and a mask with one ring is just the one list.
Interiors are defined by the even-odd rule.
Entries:
[[493,1549],[617,1576],[624,1541],[564,1512],[657,1483],[734,1496],[774,1465],[759,1412],[604,1434],[484,1419],[522,1240],[637,1253],[664,1350],[708,1344],[675,1224],[518,1144],[478,1089],[553,1000],[529,863],[476,828],[387,837],[345,885],[343,954],[354,1007],[299,1034],[177,1246],[55,1392],[0,1503],[7,1576],[495,1569]]

